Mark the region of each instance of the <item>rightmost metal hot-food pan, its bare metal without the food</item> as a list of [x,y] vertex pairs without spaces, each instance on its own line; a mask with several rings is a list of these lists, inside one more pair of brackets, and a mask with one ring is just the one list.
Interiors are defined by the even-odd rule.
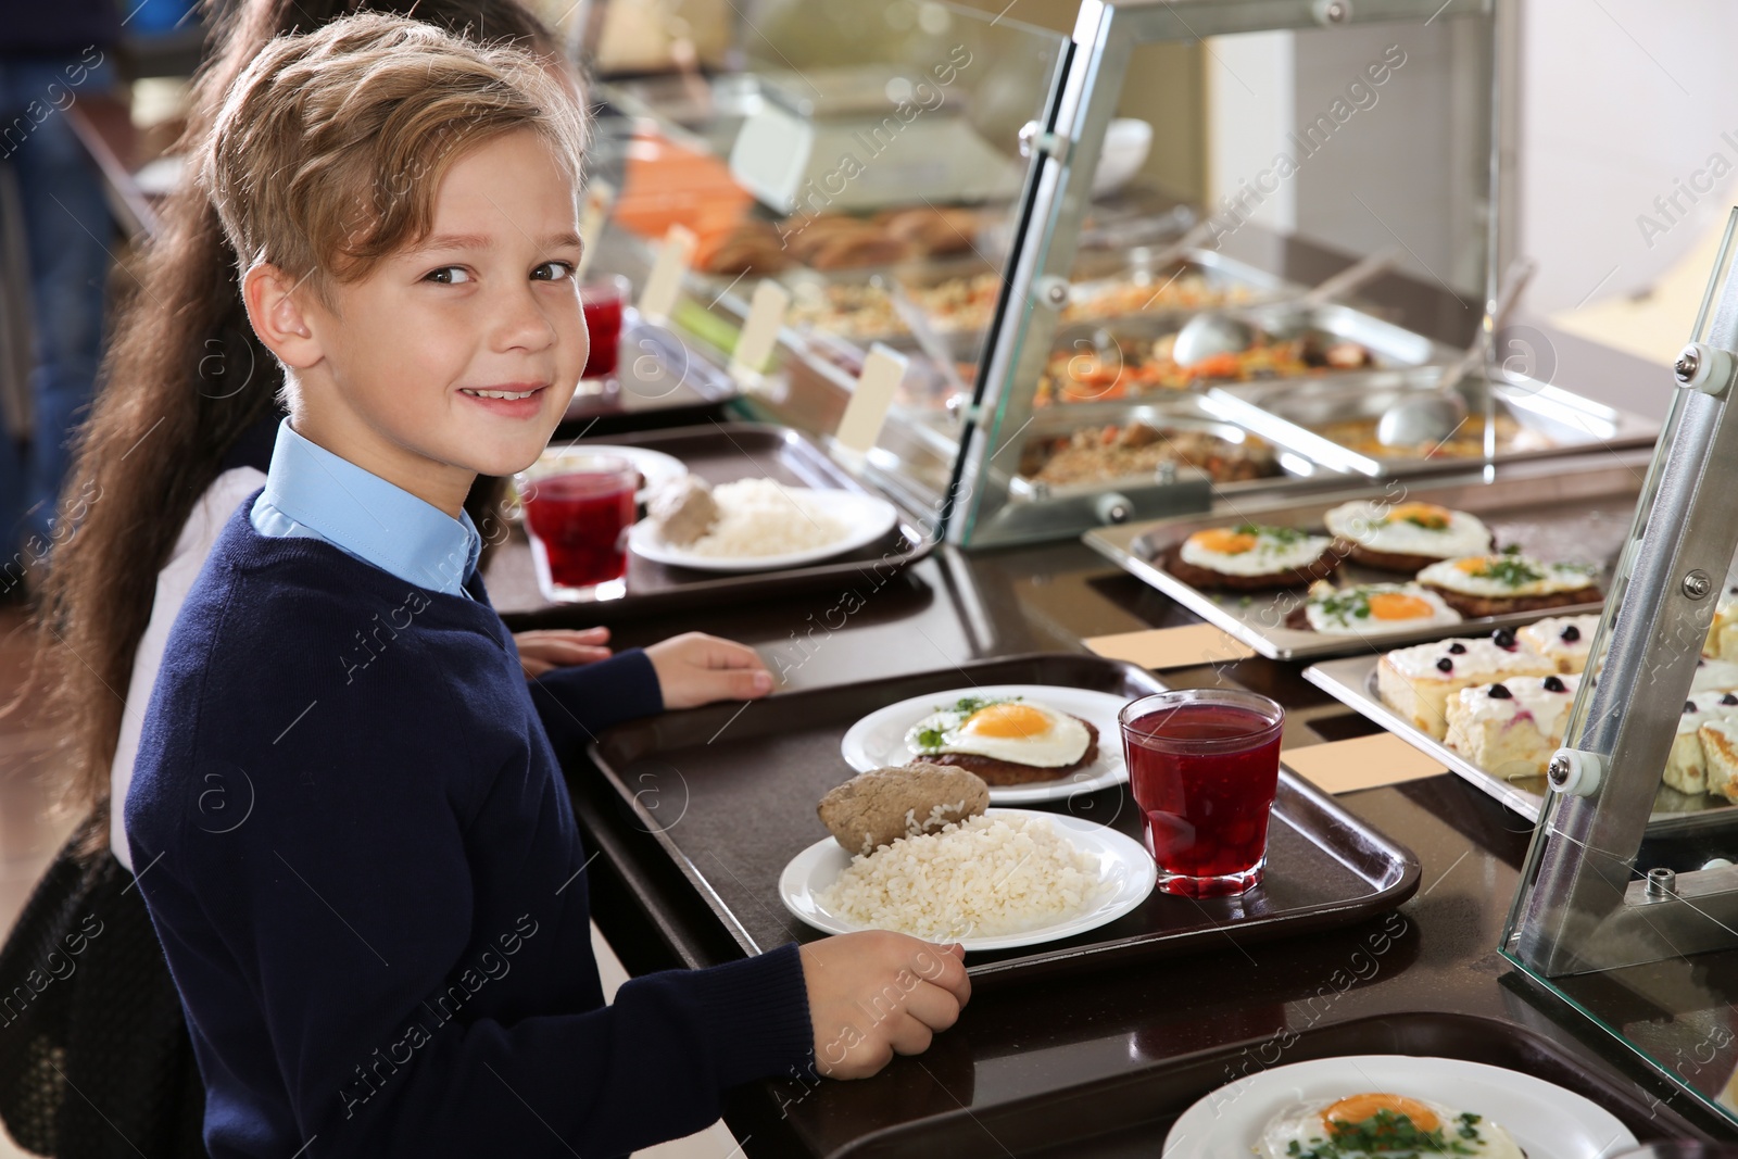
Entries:
[[[1484,462],[1483,457],[1370,455],[1316,433],[1316,427],[1330,422],[1376,419],[1410,393],[1436,389],[1437,377],[1430,368],[1366,372],[1354,382],[1338,375],[1286,382],[1234,382],[1213,387],[1211,398],[1220,403],[1227,419],[1335,471],[1394,478]],[[1660,424],[1653,419],[1533,379],[1517,377],[1495,384],[1493,401],[1496,414],[1514,419],[1522,431],[1540,434],[1550,443],[1502,450],[1491,459],[1498,464],[1575,455],[1599,447],[1608,450],[1653,447],[1660,436]],[[1474,400],[1469,429],[1483,431],[1483,400]]]

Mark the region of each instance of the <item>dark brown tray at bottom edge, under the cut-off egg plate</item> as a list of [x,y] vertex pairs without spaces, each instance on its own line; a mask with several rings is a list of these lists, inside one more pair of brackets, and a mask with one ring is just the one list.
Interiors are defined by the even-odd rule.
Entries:
[[1274,1065],[1342,1055],[1415,1055],[1507,1067],[1599,1103],[1644,1143],[1712,1138],[1672,1107],[1644,1098],[1634,1083],[1595,1070],[1557,1043],[1514,1022],[1448,1013],[1382,1015],[1304,1030],[1283,1053],[1274,1050],[1274,1036],[1232,1043],[1137,1074],[989,1107],[961,1107],[876,1131],[833,1152],[833,1159],[1001,1159],[1010,1154],[1003,1140],[1018,1140],[1018,1154],[1034,1157],[1151,1159],[1159,1154],[1166,1131],[1182,1112],[1225,1086],[1227,1076],[1265,1069],[1262,1060],[1269,1055],[1277,1056]]

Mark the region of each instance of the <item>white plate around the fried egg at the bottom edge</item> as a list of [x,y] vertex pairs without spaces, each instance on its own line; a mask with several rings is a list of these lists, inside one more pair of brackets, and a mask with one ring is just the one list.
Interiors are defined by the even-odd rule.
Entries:
[[1519,1070],[1458,1058],[1345,1055],[1260,1070],[1213,1091],[1177,1121],[1166,1159],[1251,1159],[1262,1129],[1300,1102],[1363,1091],[1430,1098],[1503,1126],[1528,1159],[1599,1159],[1635,1145],[1615,1116]]

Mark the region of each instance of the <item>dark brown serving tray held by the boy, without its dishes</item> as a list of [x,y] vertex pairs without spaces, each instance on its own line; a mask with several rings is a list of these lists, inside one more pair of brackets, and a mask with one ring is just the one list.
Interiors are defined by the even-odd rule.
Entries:
[[[620,725],[591,758],[746,954],[824,937],[779,900],[779,874],[827,836],[815,803],[853,773],[839,738],[862,716],[965,685],[1062,685],[1142,697],[1164,685],[1131,664],[1088,655],[980,660],[916,676],[721,704]],[[1046,808],[1045,805],[1025,808]],[[1051,803],[1140,839],[1126,785]],[[1224,949],[1340,926],[1390,911],[1418,888],[1418,858],[1290,772],[1269,829],[1267,881],[1236,898],[1154,893],[1097,930],[1038,947],[972,954],[982,980],[1031,978],[1130,959]]]

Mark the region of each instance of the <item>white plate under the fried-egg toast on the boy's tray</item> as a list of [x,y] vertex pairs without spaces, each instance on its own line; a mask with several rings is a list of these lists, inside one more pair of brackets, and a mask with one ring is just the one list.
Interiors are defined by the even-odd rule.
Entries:
[[905,765],[919,756],[919,752],[905,744],[905,733],[911,726],[961,697],[1020,697],[1024,700],[1038,700],[1060,712],[1078,716],[1098,730],[1098,759],[1091,765],[1069,773],[1062,780],[1050,780],[1038,785],[991,785],[991,805],[1062,801],[1078,792],[1095,792],[1128,780],[1128,768],[1123,766],[1123,732],[1116,723],[1116,714],[1128,704],[1128,697],[1086,688],[1067,688],[1064,685],[987,685],[984,688],[952,688],[928,697],[900,700],[852,725],[839,742],[839,754],[859,773]]

